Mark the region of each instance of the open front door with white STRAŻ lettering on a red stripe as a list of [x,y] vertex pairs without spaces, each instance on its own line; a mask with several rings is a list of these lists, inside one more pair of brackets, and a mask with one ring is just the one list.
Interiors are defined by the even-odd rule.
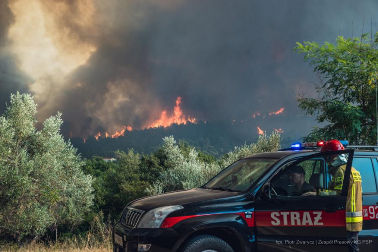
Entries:
[[[345,207],[353,154],[354,150],[317,153],[289,160],[277,168],[256,195],[258,251],[346,250]],[[322,196],[301,196],[306,191],[328,189],[326,160],[335,156],[344,158],[346,163],[339,189]]]

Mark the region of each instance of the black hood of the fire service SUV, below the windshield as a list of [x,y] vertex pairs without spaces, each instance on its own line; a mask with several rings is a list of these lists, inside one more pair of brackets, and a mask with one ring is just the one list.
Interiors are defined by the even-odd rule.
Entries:
[[193,202],[215,200],[232,196],[235,196],[234,192],[195,188],[144,197],[131,202],[128,206],[142,211],[149,211],[161,206],[186,205]]

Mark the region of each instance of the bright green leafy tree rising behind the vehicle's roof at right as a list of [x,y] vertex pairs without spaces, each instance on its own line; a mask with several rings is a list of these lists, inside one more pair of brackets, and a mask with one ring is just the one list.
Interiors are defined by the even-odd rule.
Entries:
[[305,61],[314,66],[320,84],[318,98],[299,97],[299,107],[316,120],[328,125],[316,127],[304,141],[347,139],[356,144],[373,144],[376,140],[376,85],[378,76],[378,32],[373,41],[369,34],[336,44],[297,42],[295,51],[304,53]]

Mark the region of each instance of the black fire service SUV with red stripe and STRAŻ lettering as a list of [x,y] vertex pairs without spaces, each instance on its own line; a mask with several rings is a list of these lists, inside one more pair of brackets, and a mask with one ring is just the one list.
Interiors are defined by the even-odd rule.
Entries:
[[[346,251],[341,193],[302,197],[290,169],[304,170],[315,190],[327,189],[329,155],[345,155],[361,173],[363,224],[359,246],[378,248],[378,146],[349,145],[321,153],[325,142],[244,157],[204,186],[144,197],[129,203],[113,228],[114,252],[338,252]],[[349,181],[349,180],[345,180]]]

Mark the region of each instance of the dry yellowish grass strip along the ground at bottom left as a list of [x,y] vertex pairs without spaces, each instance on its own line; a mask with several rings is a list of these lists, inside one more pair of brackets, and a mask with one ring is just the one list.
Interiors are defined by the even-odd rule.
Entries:
[[8,244],[0,247],[1,252],[112,252],[112,226],[104,223],[102,215],[94,218],[91,228],[84,237],[72,237],[64,241],[37,242],[19,247]]

